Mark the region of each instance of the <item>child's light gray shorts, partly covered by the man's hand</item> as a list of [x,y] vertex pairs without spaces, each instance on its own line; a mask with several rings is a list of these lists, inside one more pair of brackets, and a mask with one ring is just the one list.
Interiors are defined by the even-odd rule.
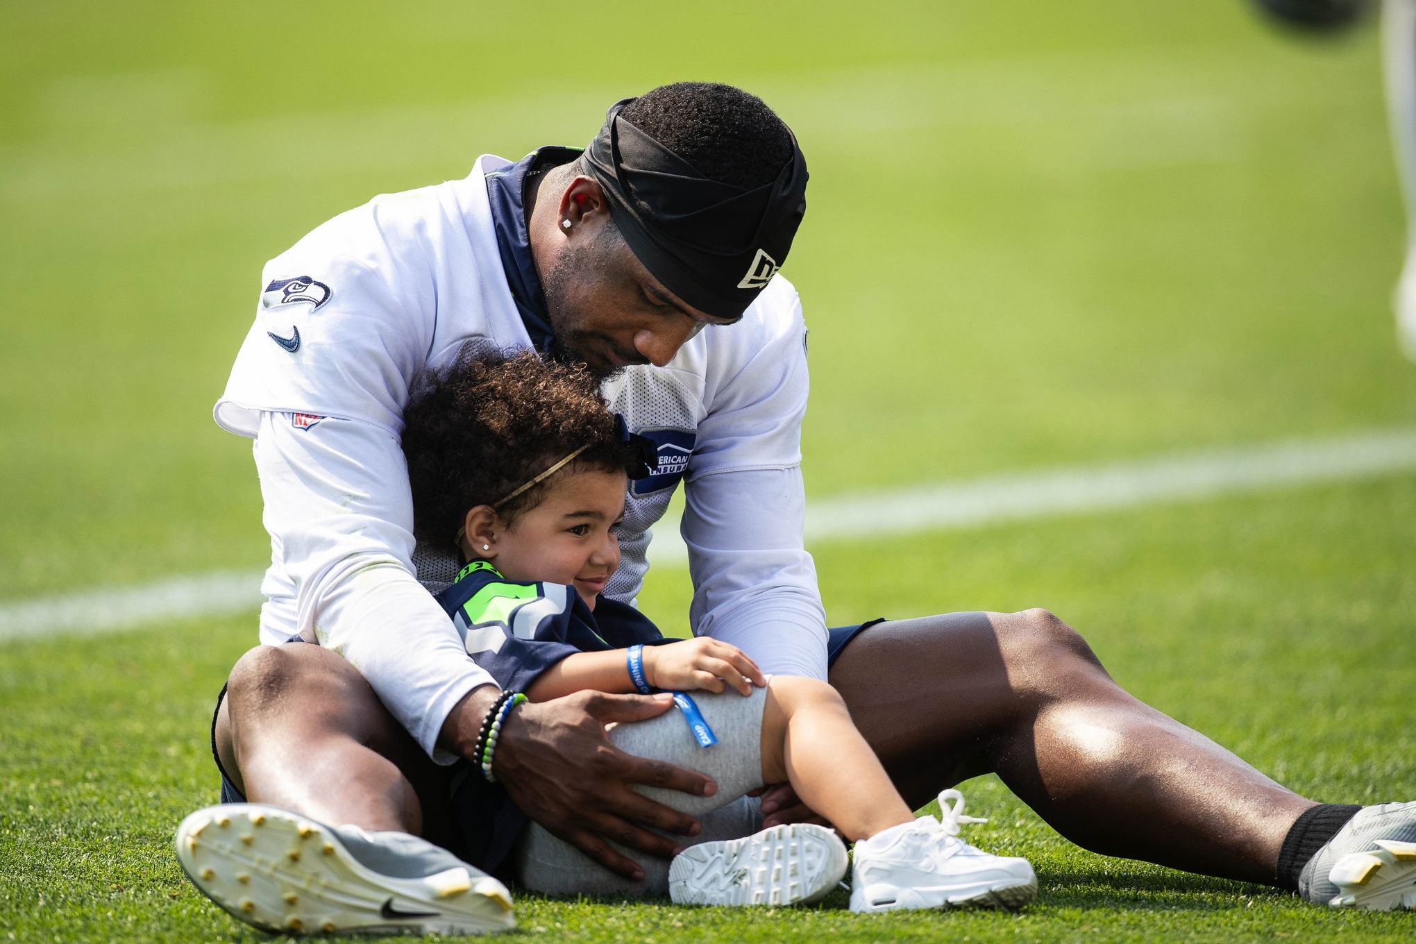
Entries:
[[[762,712],[767,689],[753,688],[746,698],[733,691],[722,695],[694,692],[692,698],[718,737],[712,747],[698,746],[677,709],[644,722],[615,725],[609,732],[610,742],[627,754],[697,770],[718,784],[712,797],[634,787],[650,800],[698,819],[702,832],[697,836],[674,836],[683,845],[752,835],[762,828],[762,808],[745,794],[762,785]],[[511,852],[514,875],[525,887],[547,894],[668,894],[667,860],[616,842],[610,845],[640,863],[643,882],[615,875],[534,822]]]

